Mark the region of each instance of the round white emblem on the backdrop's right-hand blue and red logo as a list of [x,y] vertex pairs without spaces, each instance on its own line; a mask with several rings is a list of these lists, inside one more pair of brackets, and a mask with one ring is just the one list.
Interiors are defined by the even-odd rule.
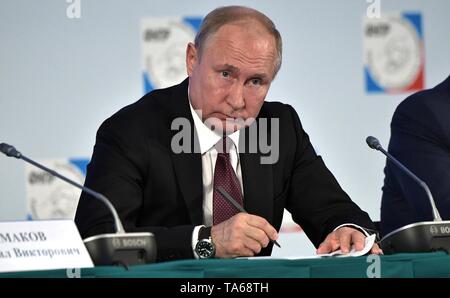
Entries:
[[422,42],[413,24],[399,16],[370,19],[365,35],[366,67],[378,86],[410,86],[422,69]]

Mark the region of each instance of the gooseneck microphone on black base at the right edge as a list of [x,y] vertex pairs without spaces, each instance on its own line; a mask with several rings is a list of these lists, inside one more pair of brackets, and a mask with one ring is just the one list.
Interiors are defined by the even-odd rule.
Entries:
[[370,148],[383,153],[390,162],[395,164],[403,173],[411,177],[424,189],[433,213],[433,221],[412,223],[384,236],[380,242],[383,252],[392,254],[444,250],[450,253],[450,221],[442,220],[428,185],[389,152],[384,150],[377,138],[369,136],[366,138],[366,143]]

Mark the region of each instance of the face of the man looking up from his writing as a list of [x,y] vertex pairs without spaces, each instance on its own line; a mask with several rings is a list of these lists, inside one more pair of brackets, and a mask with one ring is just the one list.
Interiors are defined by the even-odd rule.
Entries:
[[[187,48],[191,104],[202,120],[227,133],[256,118],[273,80],[275,38],[257,23],[222,26],[210,36],[201,57]],[[241,121],[238,121],[240,119]]]

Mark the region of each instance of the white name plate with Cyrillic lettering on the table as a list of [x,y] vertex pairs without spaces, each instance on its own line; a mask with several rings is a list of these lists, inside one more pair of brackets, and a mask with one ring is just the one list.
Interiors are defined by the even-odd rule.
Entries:
[[0,222],[0,272],[93,266],[72,220]]

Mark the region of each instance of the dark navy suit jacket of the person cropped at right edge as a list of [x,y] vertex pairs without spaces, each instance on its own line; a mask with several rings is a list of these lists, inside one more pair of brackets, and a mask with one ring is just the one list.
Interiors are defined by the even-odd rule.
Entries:
[[[389,152],[428,184],[441,216],[450,219],[450,76],[433,89],[411,95],[397,107]],[[382,233],[431,220],[424,190],[390,162],[384,172]]]

